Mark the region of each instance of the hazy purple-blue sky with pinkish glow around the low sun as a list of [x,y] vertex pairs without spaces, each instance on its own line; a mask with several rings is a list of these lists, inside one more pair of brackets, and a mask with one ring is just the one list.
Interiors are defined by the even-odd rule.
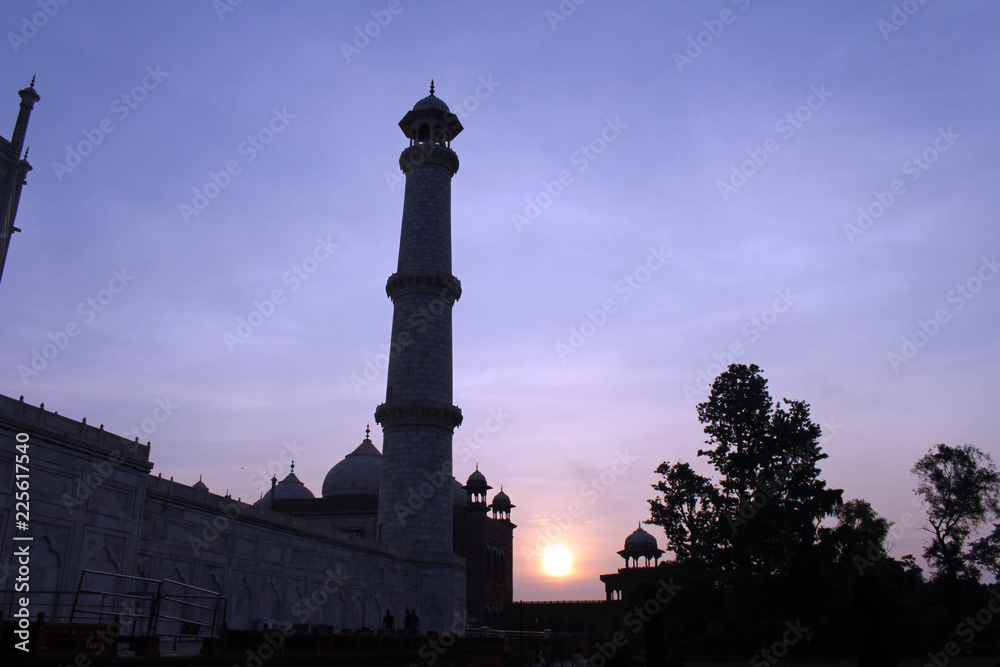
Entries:
[[41,101],[0,393],[140,434],[176,481],[253,501],[294,455],[319,494],[367,424],[381,448],[397,123],[433,78],[465,127],[455,471],[516,505],[515,599],[603,599],[656,467],[710,472],[695,406],[731,362],[811,405],[822,477],[919,554],[914,462],[941,442],[1000,460],[998,18],[4,2],[0,134],[33,75]]

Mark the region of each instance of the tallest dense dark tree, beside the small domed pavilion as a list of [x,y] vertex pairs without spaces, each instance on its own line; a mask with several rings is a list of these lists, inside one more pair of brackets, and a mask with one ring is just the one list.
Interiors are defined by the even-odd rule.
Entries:
[[708,448],[698,450],[719,479],[688,464],[668,465],[653,488],[648,523],[663,526],[678,560],[699,558],[744,573],[788,572],[811,548],[819,522],[840,504],[841,491],[819,478],[820,427],[809,405],[772,403],[757,366],[732,364],[698,405]]

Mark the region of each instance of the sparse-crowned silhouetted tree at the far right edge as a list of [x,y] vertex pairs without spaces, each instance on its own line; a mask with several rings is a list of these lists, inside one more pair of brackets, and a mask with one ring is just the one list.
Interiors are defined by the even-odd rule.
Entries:
[[[1000,473],[989,454],[972,445],[939,444],[920,458],[911,472],[917,476],[932,533],[924,556],[935,575],[955,585],[978,579],[965,553],[965,542],[979,526],[1000,514]],[[980,549],[985,557],[985,546]]]

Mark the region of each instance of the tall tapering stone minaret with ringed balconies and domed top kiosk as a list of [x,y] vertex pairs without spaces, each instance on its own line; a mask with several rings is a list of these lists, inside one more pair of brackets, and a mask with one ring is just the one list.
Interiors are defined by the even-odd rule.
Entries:
[[392,299],[382,425],[378,539],[412,550],[414,562],[452,562],[452,434],[462,411],[452,404],[451,309],[462,293],[451,275],[451,140],[462,123],[431,94],[399,121],[410,145],[399,263],[385,291]]

